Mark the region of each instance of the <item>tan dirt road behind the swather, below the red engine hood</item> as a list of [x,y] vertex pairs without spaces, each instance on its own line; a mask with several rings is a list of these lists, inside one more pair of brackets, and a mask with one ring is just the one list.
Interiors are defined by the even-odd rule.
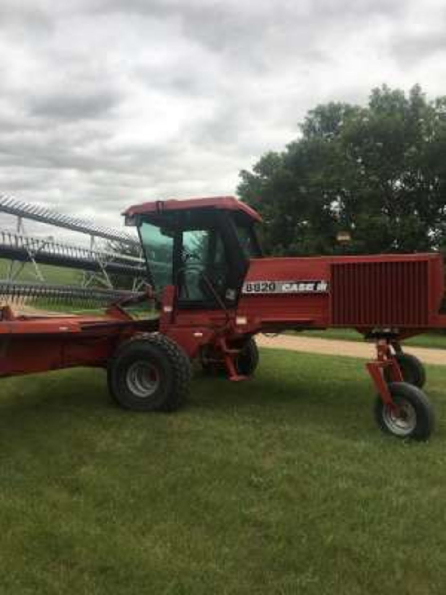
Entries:
[[[288,349],[290,351],[303,351],[306,353],[325,353],[327,355],[341,355],[347,358],[372,359],[375,355],[372,343],[359,343],[354,341],[316,339],[313,337],[293,335],[278,335],[274,338],[257,335],[256,342],[259,347]],[[404,351],[413,353],[413,355],[416,355],[417,358],[425,364],[446,366],[446,349],[404,347]]]

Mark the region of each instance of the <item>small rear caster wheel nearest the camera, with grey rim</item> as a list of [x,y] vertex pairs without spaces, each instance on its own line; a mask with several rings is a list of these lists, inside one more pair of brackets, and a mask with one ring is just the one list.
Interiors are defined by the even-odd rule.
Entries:
[[434,429],[434,410],[422,390],[406,382],[389,384],[395,408],[378,396],[375,418],[382,431],[398,438],[428,440]]

